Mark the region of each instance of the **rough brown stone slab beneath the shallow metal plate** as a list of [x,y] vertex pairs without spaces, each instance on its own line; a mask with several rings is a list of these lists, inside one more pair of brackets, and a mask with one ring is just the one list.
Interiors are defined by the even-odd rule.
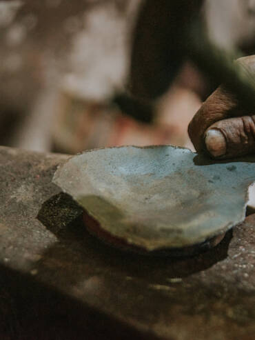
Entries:
[[51,182],[65,159],[0,149],[1,339],[254,339],[255,215],[198,257],[125,254]]

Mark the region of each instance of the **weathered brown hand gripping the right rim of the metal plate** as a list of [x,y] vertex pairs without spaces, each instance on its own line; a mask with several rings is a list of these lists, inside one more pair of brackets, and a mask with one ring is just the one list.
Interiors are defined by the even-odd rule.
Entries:
[[[255,77],[255,55],[237,60]],[[216,159],[255,152],[255,108],[245,112],[241,103],[220,86],[196,112],[188,132],[197,152],[207,151]]]

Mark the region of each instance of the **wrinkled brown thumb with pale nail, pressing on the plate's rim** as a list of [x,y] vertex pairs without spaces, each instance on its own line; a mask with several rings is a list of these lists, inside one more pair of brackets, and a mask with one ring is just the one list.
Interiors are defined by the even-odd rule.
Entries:
[[223,119],[205,131],[205,146],[212,157],[225,159],[255,151],[255,116]]

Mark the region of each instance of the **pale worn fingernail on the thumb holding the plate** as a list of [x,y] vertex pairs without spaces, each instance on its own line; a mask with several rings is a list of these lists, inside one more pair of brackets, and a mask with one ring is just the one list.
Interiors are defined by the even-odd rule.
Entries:
[[227,143],[220,130],[211,129],[205,133],[205,145],[213,157],[220,157],[227,151]]

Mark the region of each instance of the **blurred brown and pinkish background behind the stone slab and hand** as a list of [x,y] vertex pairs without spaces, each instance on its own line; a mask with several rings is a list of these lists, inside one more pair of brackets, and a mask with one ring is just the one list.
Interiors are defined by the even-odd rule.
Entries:
[[255,0],[0,0],[0,145],[192,148],[187,124],[218,85],[183,48],[193,17],[254,54]]

